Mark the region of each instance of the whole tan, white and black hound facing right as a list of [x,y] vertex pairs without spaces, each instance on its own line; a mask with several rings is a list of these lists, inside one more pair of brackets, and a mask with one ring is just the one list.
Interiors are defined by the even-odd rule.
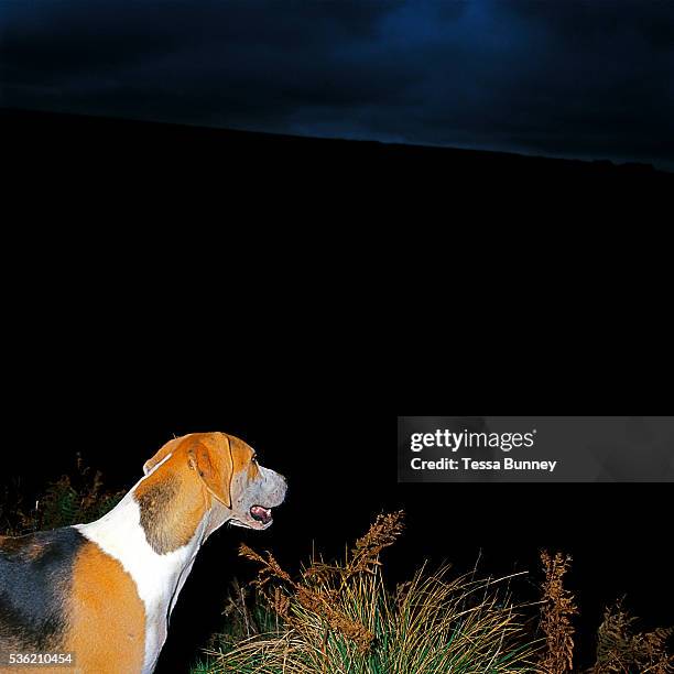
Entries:
[[152,672],[204,541],[225,522],[268,529],[286,491],[225,433],[172,439],[143,472],[100,520],[0,536],[0,672],[54,654],[62,674]]

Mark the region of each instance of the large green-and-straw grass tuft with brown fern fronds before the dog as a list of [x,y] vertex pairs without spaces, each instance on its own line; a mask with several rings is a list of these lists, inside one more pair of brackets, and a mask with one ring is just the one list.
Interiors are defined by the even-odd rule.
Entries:
[[421,568],[389,591],[380,553],[403,530],[403,513],[380,515],[339,563],[312,559],[297,578],[267,553],[241,546],[260,566],[257,605],[271,629],[216,640],[193,673],[491,674],[535,672],[509,579],[452,578]]

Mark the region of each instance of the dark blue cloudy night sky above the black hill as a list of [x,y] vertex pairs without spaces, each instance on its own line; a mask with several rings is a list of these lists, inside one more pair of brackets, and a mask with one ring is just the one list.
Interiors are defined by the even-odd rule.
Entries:
[[674,168],[671,0],[0,0],[6,106]]

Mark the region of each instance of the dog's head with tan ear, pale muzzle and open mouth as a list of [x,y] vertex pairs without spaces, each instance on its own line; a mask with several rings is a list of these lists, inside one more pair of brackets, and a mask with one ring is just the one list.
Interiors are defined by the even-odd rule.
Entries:
[[272,508],[285,499],[285,478],[258,463],[256,452],[226,433],[193,433],[166,443],[143,466],[149,475],[171,459],[188,470],[211,499],[217,517],[209,532],[226,521],[248,529],[268,529]]

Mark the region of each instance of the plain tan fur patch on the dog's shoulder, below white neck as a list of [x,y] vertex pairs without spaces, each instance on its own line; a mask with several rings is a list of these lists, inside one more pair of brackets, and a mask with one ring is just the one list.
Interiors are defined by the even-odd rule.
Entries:
[[95,543],[75,561],[63,650],[87,674],[134,674],[143,666],[145,610],[135,583]]

